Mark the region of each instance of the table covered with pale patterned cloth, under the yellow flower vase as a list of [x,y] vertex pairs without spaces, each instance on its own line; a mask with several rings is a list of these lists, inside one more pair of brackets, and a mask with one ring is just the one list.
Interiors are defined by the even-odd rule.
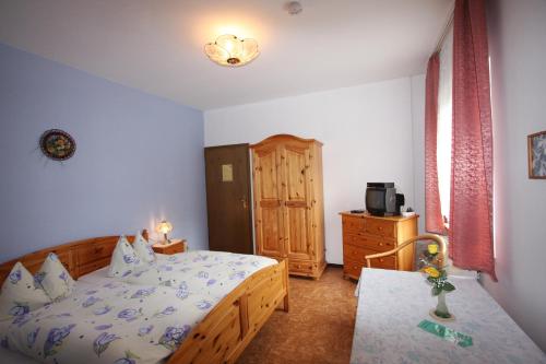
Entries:
[[417,327],[434,321],[428,312],[437,303],[422,273],[363,269],[351,363],[546,364],[546,355],[476,280],[450,281],[456,290],[447,303],[456,319],[439,324],[471,336],[468,348]]

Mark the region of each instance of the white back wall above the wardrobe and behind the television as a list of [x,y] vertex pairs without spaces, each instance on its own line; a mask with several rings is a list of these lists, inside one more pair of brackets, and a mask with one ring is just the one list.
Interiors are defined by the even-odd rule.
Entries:
[[327,261],[343,262],[340,211],[364,207],[367,181],[395,181],[414,206],[410,78],[209,110],[205,145],[276,133],[324,143]]

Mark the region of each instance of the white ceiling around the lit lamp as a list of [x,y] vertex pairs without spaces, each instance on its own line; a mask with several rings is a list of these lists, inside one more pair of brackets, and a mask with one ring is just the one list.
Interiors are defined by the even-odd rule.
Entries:
[[[453,0],[0,0],[0,42],[211,109],[422,73]],[[224,33],[258,40],[242,68],[212,63]]]

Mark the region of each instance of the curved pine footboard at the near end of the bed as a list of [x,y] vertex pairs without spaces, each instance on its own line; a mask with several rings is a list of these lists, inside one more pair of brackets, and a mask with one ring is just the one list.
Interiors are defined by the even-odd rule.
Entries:
[[288,312],[286,260],[256,272],[222,300],[167,364],[235,363],[278,306]]

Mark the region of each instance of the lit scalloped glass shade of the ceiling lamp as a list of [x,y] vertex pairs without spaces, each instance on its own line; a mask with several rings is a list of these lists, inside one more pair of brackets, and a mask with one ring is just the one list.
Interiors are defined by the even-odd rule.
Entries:
[[247,64],[260,54],[258,42],[250,38],[239,39],[230,34],[221,35],[216,42],[207,43],[204,51],[212,61],[227,67]]

